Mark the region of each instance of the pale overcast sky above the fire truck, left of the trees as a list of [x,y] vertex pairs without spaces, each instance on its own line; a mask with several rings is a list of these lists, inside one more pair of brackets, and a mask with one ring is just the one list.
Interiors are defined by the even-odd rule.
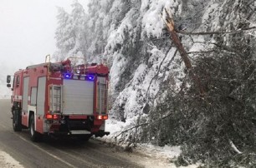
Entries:
[[[87,7],[90,0],[79,0]],[[73,0],[0,0],[0,69],[12,74],[44,62],[56,50],[57,7],[71,11]]]

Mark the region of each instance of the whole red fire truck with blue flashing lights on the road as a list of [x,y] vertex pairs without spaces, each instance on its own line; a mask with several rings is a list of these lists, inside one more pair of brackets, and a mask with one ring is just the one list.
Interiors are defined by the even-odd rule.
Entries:
[[73,66],[45,62],[7,77],[12,88],[13,130],[28,128],[31,140],[43,135],[105,136],[108,119],[109,69],[103,64]]

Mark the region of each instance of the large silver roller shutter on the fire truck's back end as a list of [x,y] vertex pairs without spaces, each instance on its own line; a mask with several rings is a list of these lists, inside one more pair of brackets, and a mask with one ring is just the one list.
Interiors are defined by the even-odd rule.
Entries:
[[94,110],[94,82],[64,80],[64,114],[92,115]]

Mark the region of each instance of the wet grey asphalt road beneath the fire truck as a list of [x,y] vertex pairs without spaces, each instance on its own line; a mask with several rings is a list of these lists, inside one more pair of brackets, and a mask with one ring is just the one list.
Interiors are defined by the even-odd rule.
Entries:
[[131,154],[111,148],[101,141],[47,138],[42,142],[32,142],[28,130],[13,131],[10,108],[9,100],[0,100],[0,150],[26,168],[141,167]]

